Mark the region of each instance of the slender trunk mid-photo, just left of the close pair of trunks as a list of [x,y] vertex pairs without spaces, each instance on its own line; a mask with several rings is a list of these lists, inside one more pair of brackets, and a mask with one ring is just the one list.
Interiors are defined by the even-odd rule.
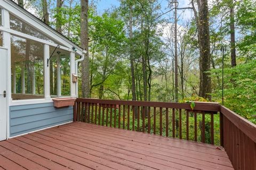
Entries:
[[133,58],[133,45],[132,45],[132,5],[130,5],[130,16],[129,16],[129,37],[130,37],[130,63],[131,63],[131,77],[132,77],[132,100],[137,100],[136,87],[135,87],[135,74],[134,74],[134,58]]

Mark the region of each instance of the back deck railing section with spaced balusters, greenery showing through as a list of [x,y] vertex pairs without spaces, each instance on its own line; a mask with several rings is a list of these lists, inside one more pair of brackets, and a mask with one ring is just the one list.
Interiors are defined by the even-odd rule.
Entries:
[[218,104],[196,103],[192,111],[185,103],[78,98],[74,121],[214,144],[219,111]]

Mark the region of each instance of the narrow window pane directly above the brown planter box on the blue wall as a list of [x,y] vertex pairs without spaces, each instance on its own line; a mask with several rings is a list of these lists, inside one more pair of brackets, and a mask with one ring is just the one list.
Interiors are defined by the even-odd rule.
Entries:
[[[50,46],[50,55],[55,47]],[[51,97],[70,96],[70,53],[57,48],[50,60]]]

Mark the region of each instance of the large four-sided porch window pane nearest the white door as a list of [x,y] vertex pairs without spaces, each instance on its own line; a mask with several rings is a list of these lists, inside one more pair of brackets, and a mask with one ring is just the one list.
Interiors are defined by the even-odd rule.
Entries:
[[44,98],[44,45],[11,36],[12,99]]

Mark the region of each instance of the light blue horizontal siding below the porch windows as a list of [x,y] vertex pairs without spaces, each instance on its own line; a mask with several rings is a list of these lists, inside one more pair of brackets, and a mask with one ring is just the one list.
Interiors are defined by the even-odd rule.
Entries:
[[53,103],[10,106],[10,137],[73,121],[73,107]]

